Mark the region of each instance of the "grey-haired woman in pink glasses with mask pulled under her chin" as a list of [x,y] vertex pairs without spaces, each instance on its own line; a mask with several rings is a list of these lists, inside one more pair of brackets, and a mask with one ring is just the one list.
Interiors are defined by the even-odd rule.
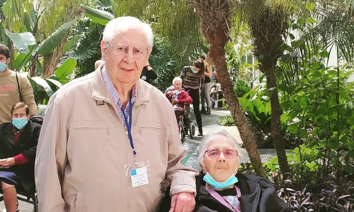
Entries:
[[[194,212],[293,212],[270,180],[238,173],[240,162],[239,144],[224,129],[205,136],[199,147],[202,171],[196,177]],[[165,195],[159,212],[168,212],[170,201]]]

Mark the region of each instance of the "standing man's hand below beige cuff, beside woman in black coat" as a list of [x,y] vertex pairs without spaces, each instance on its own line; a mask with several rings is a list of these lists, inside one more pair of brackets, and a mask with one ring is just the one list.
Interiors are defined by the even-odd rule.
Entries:
[[169,212],[192,212],[194,206],[194,194],[191,192],[181,192],[172,196]]

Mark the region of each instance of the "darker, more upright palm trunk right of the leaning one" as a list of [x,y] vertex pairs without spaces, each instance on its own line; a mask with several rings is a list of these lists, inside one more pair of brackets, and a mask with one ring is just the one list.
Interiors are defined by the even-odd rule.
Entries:
[[278,89],[276,85],[275,66],[282,56],[281,45],[284,43],[283,33],[285,30],[286,14],[280,8],[271,8],[263,1],[257,6],[261,13],[253,15],[249,19],[249,26],[252,30],[253,53],[258,58],[259,70],[265,73],[267,85],[270,92],[270,105],[272,107],[272,134],[274,146],[278,156],[279,167],[282,173],[289,172],[284,143],[281,135],[280,106]]

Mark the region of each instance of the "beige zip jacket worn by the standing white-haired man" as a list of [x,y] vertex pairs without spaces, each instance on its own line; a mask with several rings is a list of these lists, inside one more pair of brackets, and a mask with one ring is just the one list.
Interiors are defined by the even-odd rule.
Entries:
[[[172,105],[139,80],[132,111],[132,138],[105,88],[100,68],[52,95],[39,137],[35,179],[40,212],[155,212],[160,183],[171,195],[195,193],[194,169],[182,165]],[[134,187],[129,170],[147,167],[148,184]]]

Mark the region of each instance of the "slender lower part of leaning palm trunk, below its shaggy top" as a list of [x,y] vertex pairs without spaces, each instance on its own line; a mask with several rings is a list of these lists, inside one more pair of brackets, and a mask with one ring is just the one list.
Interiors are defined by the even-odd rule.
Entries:
[[234,91],[234,86],[230,79],[230,74],[225,62],[225,49],[223,46],[211,44],[210,57],[214,61],[214,65],[218,72],[219,82],[224,92],[231,115],[235,121],[236,127],[240,132],[241,139],[244,143],[245,149],[250,157],[255,173],[258,176],[266,177],[261,157],[257,150],[257,145],[253,139],[253,135],[249,124],[247,123],[244,111],[242,110],[237,95]]

